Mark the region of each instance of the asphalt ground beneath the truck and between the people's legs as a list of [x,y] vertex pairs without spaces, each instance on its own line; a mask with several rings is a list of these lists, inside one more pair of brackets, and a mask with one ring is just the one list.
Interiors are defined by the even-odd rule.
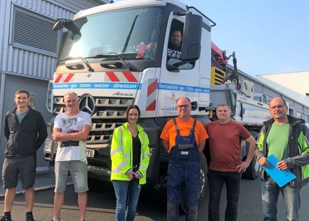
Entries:
[[[34,218],[37,221],[50,221],[53,211],[53,187],[55,178],[53,174],[39,174],[36,176],[35,183],[35,205]],[[71,182],[68,182],[70,185]],[[261,205],[261,187],[260,180],[242,179],[240,184],[240,196],[238,205],[237,221],[262,221],[263,211]],[[88,205],[86,220],[87,221],[112,221],[115,220],[116,197],[111,182],[102,182],[98,191],[88,192]],[[0,189],[0,214],[3,212],[5,190]],[[207,221],[208,217],[208,195],[207,187],[206,195],[199,205],[199,221]],[[12,219],[14,221],[24,220],[25,202],[21,185],[17,188],[13,209]],[[309,185],[301,190],[301,208],[300,221],[309,221],[308,213],[309,205]],[[226,191],[223,188],[220,202],[220,221],[224,221],[224,212],[226,207]],[[77,205],[77,194],[74,193],[72,185],[67,187],[65,193],[65,201],[61,210],[61,220],[77,221],[79,220],[79,212]],[[185,216],[180,215],[179,221],[184,221]],[[155,190],[151,186],[145,185],[142,188],[139,198],[136,221],[166,221],[166,192]],[[285,221],[285,206],[283,197],[278,200],[278,221]]]

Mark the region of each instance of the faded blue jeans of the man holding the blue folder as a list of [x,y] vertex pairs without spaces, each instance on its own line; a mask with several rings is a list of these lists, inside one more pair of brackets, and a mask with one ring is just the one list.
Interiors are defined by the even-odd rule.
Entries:
[[299,221],[300,187],[279,187],[278,184],[269,177],[267,181],[261,181],[261,192],[264,221],[277,221],[277,202],[280,192],[285,201],[286,220]]

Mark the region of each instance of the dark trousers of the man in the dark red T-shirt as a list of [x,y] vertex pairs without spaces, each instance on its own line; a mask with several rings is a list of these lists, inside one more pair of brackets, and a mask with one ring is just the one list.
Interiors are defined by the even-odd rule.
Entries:
[[223,183],[226,185],[227,198],[225,221],[236,221],[241,172],[220,172],[208,170],[207,176],[209,183],[208,221],[220,220],[219,208]]

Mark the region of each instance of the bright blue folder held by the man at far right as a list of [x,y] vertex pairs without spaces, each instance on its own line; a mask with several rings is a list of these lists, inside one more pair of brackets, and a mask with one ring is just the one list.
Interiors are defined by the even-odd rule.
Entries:
[[271,178],[275,180],[278,186],[283,187],[289,181],[296,178],[296,176],[289,170],[282,171],[277,168],[276,165],[279,162],[279,160],[274,155],[271,154],[266,158],[266,160],[269,166],[268,167],[261,166],[261,167],[270,175]]

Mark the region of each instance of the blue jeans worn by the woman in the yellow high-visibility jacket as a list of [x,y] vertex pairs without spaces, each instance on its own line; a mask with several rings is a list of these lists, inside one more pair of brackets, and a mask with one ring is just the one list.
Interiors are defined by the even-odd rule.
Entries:
[[[113,180],[116,194],[116,221],[134,221],[136,206],[141,193],[139,179],[133,178],[130,181]],[[127,194],[128,206],[126,207]]]

